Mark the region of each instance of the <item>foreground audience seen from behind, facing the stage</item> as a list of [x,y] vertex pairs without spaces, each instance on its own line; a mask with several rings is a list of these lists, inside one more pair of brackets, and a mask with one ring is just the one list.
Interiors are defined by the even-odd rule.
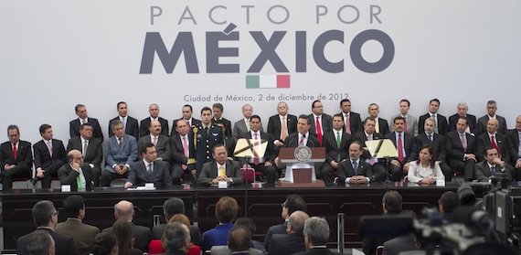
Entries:
[[[384,214],[401,214],[415,217],[410,210],[402,211],[402,198],[397,191],[388,191],[382,199]],[[460,205],[460,197],[452,191],[445,192],[439,200],[439,210],[443,224],[452,222],[452,211]],[[122,200],[114,206],[116,221],[111,228],[102,229],[82,222],[86,216],[83,198],[78,195],[67,197],[63,201],[63,209],[68,219],[58,223],[58,210],[48,200],[42,200],[32,209],[37,230],[16,241],[17,254],[33,253],[37,249],[37,232],[48,233],[53,241],[52,247],[40,245],[39,249],[53,249],[51,254],[192,254],[210,251],[214,255],[251,254],[251,255],[287,255],[287,254],[337,254],[327,248],[330,229],[324,218],[311,217],[306,213],[306,203],[298,195],[289,195],[282,203],[281,216],[283,222],[271,226],[264,241],[253,240],[256,231],[255,223],[250,218],[237,218],[239,204],[233,197],[221,197],[216,203],[215,228],[203,229],[203,234],[196,226],[190,224],[185,213],[183,200],[172,197],[165,201],[164,214],[166,223],[147,228],[135,225],[133,220],[133,204]],[[237,219],[236,219],[237,218]],[[234,222],[235,220],[235,222]],[[173,224],[184,228],[183,233],[171,232]],[[184,225],[185,227],[181,227]],[[115,236],[117,245],[112,244],[106,253],[101,253],[101,237],[105,233]],[[176,234],[175,234],[176,233]],[[172,235],[175,235],[174,237]],[[178,235],[178,236],[177,236]],[[132,240],[131,240],[132,238]],[[179,243],[171,245],[172,239]],[[365,254],[375,254],[377,246],[384,246],[384,254],[399,254],[400,251],[418,250],[419,243],[412,235],[401,237],[389,236],[378,239],[364,238]],[[119,253],[109,253],[112,247],[118,247]],[[112,250],[114,251],[114,250]]]

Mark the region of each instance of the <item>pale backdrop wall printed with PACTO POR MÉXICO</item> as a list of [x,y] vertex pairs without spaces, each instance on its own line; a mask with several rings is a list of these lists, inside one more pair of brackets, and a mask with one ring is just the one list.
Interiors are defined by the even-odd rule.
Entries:
[[[47,122],[55,138],[67,143],[77,103],[87,105],[106,136],[118,101],[127,101],[129,115],[138,120],[156,102],[160,115],[172,125],[181,116],[182,105],[191,104],[197,117],[216,96],[223,98],[224,115],[232,122],[241,118],[240,107],[250,103],[264,126],[276,113],[281,95],[307,97],[284,100],[295,115],[309,114],[318,95],[324,96],[324,112],[334,114],[339,112],[340,98],[347,97],[353,111],[364,118],[371,102],[380,105],[384,118],[399,112],[402,98],[409,99],[410,114],[416,117],[427,112],[432,98],[440,99],[445,116],[456,112],[459,101],[466,101],[469,113],[480,117],[486,113],[486,101],[495,100],[498,113],[513,128],[521,112],[517,101],[520,10],[521,2],[516,0],[4,0],[0,2],[0,141],[7,140],[2,133],[7,125],[16,123],[22,139],[36,143],[39,125]],[[219,34],[230,23],[237,27],[228,38],[236,38],[217,45],[232,48],[231,56],[218,58],[218,63],[236,64],[238,69],[215,73],[207,63],[215,67],[216,62],[207,57],[221,53],[212,48],[208,37],[213,36],[208,35]],[[377,72],[356,68],[350,54],[353,39],[370,29],[387,35],[394,46],[392,61]],[[321,69],[314,56],[317,38],[333,30],[341,31],[342,39],[329,41],[317,52],[332,63],[344,60],[337,72]],[[266,48],[254,39],[255,31],[267,41],[276,31],[285,31],[274,55],[287,71],[268,61],[249,72]],[[197,59],[198,72],[188,73],[182,54],[169,73],[154,54],[150,73],[140,73],[145,37],[154,32],[168,52],[180,33],[191,35],[197,57],[188,60]],[[303,40],[297,38],[303,33]],[[299,54],[297,44],[305,44]],[[374,63],[387,50],[377,40],[368,40],[360,52]],[[291,88],[246,89],[246,75],[290,75]],[[266,101],[269,95],[274,101]],[[198,96],[209,96],[210,101],[189,100]],[[233,96],[246,100],[227,100]]]

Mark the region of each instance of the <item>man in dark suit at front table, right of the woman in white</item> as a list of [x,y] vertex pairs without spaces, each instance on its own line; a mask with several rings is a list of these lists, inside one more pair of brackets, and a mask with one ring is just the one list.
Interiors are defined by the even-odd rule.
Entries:
[[501,160],[497,150],[493,147],[488,147],[484,155],[484,161],[475,165],[476,179],[480,182],[490,182],[491,177],[498,173],[502,173],[509,180],[512,180],[510,173],[513,171],[514,167]]

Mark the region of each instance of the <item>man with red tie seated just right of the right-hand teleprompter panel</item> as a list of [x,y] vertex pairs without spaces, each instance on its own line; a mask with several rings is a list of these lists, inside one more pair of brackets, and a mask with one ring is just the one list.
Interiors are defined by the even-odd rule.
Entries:
[[401,175],[407,175],[409,171],[409,162],[415,159],[416,142],[412,134],[404,132],[405,120],[402,117],[394,118],[394,132],[388,133],[386,139],[390,139],[394,143],[398,158],[391,160],[389,171],[391,180],[398,182]]

